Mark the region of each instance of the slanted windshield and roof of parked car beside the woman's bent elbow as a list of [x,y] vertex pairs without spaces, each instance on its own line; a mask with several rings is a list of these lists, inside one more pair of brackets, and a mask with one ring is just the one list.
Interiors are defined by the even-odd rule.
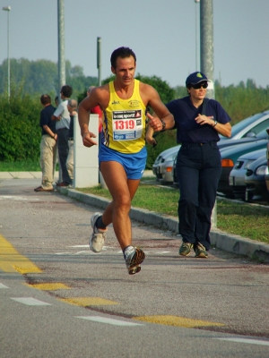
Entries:
[[230,138],[220,135],[221,141],[239,140],[241,138],[254,137],[256,134],[269,128],[269,110],[256,115],[251,115],[231,127]]

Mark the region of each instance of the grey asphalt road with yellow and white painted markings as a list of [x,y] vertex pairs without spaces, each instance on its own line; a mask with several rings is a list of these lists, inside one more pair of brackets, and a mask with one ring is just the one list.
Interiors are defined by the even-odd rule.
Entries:
[[0,181],[0,357],[268,357],[269,266],[133,222],[129,276],[113,227],[88,248],[93,208],[39,180]]

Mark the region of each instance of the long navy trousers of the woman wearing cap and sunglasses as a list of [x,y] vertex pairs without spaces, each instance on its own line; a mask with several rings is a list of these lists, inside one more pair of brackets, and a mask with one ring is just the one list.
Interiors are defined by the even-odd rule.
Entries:
[[183,143],[178,151],[178,230],[184,243],[210,249],[211,215],[221,176],[221,154],[216,142]]

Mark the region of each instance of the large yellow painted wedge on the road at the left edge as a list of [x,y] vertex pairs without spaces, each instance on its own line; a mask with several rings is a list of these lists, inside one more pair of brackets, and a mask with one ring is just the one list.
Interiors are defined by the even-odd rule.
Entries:
[[19,272],[20,274],[40,273],[42,270],[38,268],[20,252],[14,249],[0,234],[0,269],[4,272]]

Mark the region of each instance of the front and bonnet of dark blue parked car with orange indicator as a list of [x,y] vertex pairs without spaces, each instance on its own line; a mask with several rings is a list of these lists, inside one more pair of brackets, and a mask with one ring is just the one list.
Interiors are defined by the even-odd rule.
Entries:
[[218,192],[222,192],[228,198],[234,198],[232,187],[229,184],[231,169],[234,167],[240,156],[258,149],[266,149],[267,141],[268,140],[251,141],[249,143],[220,149],[222,172],[218,185]]

